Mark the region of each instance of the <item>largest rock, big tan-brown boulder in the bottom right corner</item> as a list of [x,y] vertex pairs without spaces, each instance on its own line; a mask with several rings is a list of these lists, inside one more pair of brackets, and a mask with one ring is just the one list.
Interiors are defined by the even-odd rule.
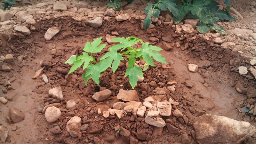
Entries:
[[256,132],[250,123],[236,121],[225,116],[196,117],[193,127],[199,144],[240,144]]

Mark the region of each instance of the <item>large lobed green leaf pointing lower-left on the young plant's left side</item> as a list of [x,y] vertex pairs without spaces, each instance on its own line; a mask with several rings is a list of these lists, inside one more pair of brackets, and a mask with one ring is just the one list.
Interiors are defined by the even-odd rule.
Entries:
[[[92,61],[92,57],[88,55],[88,53],[83,52],[83,55],[80,55],[73,61],[74,65],[70,68],[68,74],[75,71],[77,68],[80,68],[84,63],[83,70],[89,65],[89,62]],[[67,61],[66,61],[67,62]]]

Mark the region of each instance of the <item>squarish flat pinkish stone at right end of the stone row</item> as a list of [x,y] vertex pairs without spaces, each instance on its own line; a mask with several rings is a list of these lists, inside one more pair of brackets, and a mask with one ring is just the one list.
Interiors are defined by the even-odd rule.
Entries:
[[157,103],[157,110],[160,116],[171,116],[172,106],[169,101],[162,101]]

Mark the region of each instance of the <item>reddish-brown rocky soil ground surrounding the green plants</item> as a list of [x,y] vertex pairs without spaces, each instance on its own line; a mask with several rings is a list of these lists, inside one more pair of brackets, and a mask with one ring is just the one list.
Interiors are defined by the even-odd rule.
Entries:
[[[145,0],[120,11],[104,0],[17,3],[0,12],[2,143],[256,143],[255,1],[231,1],[238,20],[217,22],[226,36],[198,34],[198,20],[175,25],[168,12],[145,30]],[[135,36],[168,64],[155,62],[134,90],[125,61],[85,86],[65,61],[101,36],[97,60],[111,38]]]

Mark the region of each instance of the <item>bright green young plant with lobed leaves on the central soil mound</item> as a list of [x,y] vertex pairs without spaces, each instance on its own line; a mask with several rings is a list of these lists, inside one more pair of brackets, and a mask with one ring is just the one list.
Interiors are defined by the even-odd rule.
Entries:
[[[128,62],[128,68],[125,72],[125,77],[129,76],[129,83],[132,86],[132,89],[136,86],[138,82],[138,76],[143,78],[142,70],[147,70],[148,66],[155,66],[154,60],[167,63],[164,57],[156,51],[161,51],[162,49],[149,45],[148,42],[143,42],[141,39],[136,37],[127,37],[127,38],[112,38],[113,42],[118,42],[120,44],[116,44],[109,48],[109,52],[104,54],[100,61],[97,62],[95,58],[92,56],[92,53],[97,53],[103,50],[106,44],[101,44],[101,38],[94,40],[91,44],[86,42],[83,54],[80,56],[73,55],[71,56],[65,63],[74,64],[70,70],[69,74],[75,71],[77,68],[80,68],[83,65],[83,70],[86,69],[86,72],[82,75],[85,85],[87,85],[87,81],[92,78],[92,80],[96,84],[100,84],[100,73],[105,72],[105,70],[109,67],[112,68],[113,73],[115,73],[116,69],[120,64],[120,60],[126,60]],[[136,45],[141,43],[141,48],[136,48]],[[120,51],[120,52],[117,52]],[[135,65],[136,58],[140,58],[145,60],[146,63],[144,65]]]

